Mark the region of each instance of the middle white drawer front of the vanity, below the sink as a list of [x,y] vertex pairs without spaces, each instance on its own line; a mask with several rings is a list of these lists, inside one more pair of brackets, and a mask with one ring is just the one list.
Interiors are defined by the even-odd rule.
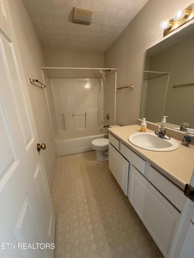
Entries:
[[129,162],[135,166],[135,168],[137,168],[142,174],[145,174],[146,161],[144,159],[140,158],[123,143],[120,145],[120,152],[127,160],[129,160]]

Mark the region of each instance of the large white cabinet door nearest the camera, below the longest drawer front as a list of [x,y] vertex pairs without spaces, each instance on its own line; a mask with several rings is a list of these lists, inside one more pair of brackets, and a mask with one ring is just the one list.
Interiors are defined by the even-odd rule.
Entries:
[[149,181],[130,167],[129,201],[165,257],[168,257],[180,213]]

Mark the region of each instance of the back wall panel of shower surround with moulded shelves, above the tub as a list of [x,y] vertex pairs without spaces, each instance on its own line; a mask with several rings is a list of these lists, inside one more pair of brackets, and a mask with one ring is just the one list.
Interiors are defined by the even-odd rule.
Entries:
[[[82,130],[81,136],[100,134],[104,113],[100,91],[102,79],[51,78],[58,132]],[[102,120],[103,119],[103,120]],[[92,133],[97,129],[97,133]],[[79,137],[78,132],[78,137]],[[76,137],[76,136],[75,136]]]

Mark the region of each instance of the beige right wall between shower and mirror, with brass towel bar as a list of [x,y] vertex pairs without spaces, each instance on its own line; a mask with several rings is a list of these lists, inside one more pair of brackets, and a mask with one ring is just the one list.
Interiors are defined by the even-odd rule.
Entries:
[[117,68],[117,87],[134,84],[116,94],[116,124],[136,124],[139,118],[144,56],[146,49],[162,41],[159,24],[171,19],[179,7],[191,0],[149,0],[120,36],[105,52],[105,67]]

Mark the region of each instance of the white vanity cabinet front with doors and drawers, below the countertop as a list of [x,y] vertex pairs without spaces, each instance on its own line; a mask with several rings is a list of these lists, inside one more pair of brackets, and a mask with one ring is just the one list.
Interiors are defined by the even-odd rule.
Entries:
[[183,191],[110,133],[109,168],[167,258],[186,200]]

